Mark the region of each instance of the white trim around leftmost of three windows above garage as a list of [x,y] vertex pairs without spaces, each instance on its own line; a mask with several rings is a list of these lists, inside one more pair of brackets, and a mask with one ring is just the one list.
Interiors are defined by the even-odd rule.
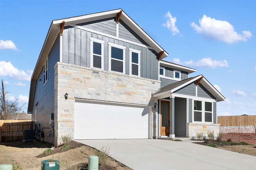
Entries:
[[[101,55],[93,54],[93,42],[101,44]],[[91,68],[104,70],[104,43],[105,41],[90,37],[90,67]],[[93,55],[101,57],[101,68],[93,67]]]

